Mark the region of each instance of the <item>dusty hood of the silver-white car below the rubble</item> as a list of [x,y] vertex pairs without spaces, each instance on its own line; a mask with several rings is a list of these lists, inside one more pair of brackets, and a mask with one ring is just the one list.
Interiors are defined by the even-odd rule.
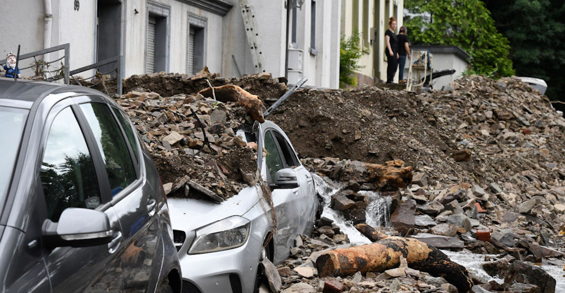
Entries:
[[190,198],[168,198],[167,204],[172,228],[188,232],[229,216],[242,216],[258,201],[256,187],[248,186],[219,204]]

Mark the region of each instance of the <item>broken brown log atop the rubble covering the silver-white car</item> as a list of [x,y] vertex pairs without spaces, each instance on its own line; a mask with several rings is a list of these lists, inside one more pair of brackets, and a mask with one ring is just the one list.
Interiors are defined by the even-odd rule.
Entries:
[[[253,95],[237,85],[223,85],[214,87],[216,99],[220,102],[237,102],[240,106],[247,110],[247,113],[260,123],[265,122],[263,117],[263,102],[258,95]],[[206,88],[198,92],[204,97],[212,97],[212,89]]]

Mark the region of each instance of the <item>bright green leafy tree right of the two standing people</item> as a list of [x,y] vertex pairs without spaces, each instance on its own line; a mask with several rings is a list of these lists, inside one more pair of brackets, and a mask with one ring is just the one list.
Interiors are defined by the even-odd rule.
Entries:
[[407,0],[405,25],[415,44],[453,45],[470,56],[470,72],[492,77],[514,74],[510,43],[498,33],[480,0]]

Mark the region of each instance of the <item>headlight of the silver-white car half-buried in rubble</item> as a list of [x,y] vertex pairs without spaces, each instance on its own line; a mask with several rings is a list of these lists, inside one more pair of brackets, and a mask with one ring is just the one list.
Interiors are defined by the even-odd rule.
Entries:
[[251,221],[231,216],[196,230],[188,254],[207,253],[242,246],[249,237]]

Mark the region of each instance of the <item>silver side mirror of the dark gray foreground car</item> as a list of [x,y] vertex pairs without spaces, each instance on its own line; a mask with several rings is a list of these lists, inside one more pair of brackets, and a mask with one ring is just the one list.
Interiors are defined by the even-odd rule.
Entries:
[[42,226],[46,247],[85,247],[112,240],[110,221],[104,212],[88,208],[66,208],[59,222],[47,219]]

